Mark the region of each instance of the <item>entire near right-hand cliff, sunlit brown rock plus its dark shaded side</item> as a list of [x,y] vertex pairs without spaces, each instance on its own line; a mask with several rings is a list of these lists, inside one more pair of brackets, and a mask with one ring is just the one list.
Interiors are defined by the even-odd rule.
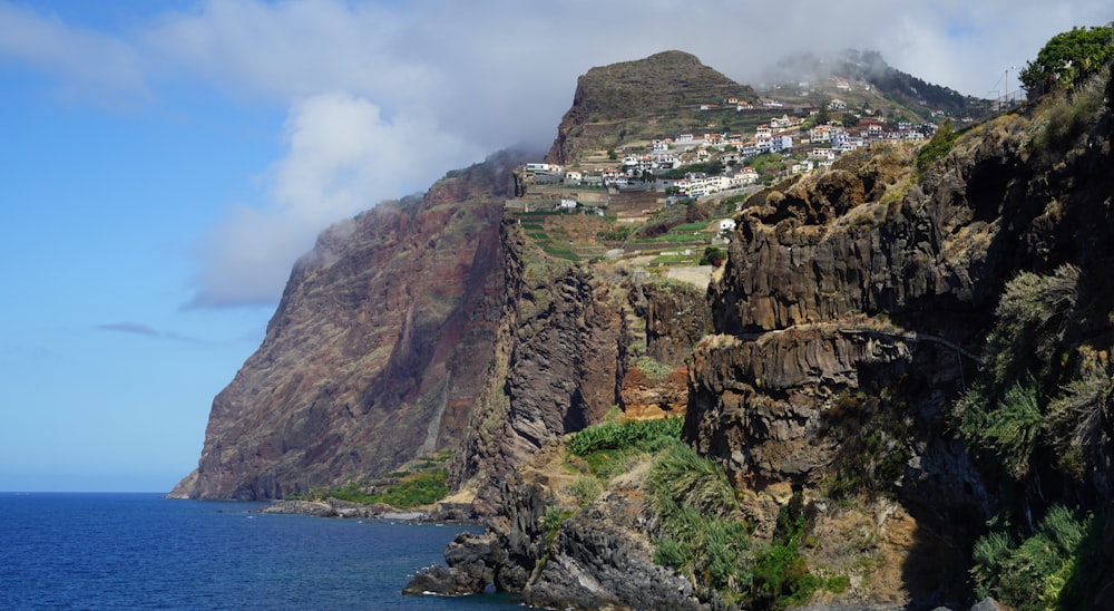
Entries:
[[[1114,162],[1112,123],[1084,101],[988,123],[919,172],[902,146],[844,156],[736,216],[709,293],[714,333],[692,358],[685,436],[734,478],[759,536],[788,489],[815,500],[813,533],[847,520],[831,498],[889,500],[856,512],[891,544],[910,525],[919,534],[886,552],[900,579],[863,599],[961,597],[937,586],[965,579],[949,571],[994,516],[1024,531],[1057,503],[1110,511],[1108,404],[1079,408],[1071,418],[1089,424],[1074,433],[1055,424],[1065,401],[1084,403],[1081,379],[1111,376],[1114,181],[1100,168]],[[1067,297],[1024,292],[1042,279]],[[1058,309],[1039,313],[1042,299]],[[1029,420],[1032,446],[1003,467],[1010,385],[1034,389],[1028,414],[1045,420]],[[1081,464],[1065,467],[1065,452]]]

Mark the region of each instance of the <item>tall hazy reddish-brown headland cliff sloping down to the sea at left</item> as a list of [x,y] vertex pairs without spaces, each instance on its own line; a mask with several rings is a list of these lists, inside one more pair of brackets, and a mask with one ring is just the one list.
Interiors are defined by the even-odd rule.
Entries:
[[521,162],[495,156],[324,232],[172,495],[281,498],[455,447],[492,358],[499,220]]

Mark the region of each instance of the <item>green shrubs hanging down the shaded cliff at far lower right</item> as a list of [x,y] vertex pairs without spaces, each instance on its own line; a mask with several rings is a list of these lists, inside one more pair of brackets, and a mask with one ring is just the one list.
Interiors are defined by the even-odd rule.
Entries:
[[1087,608],[1110,571],[1102,521],[1049,506],[1040,492],[1042,481],[1086,489],[1088,457],[1101,455],[1114,385],[1104,353],[1067,341],[1084,310],[1078,269],[1018,274],[995,311],[986,370],[955,406],[968,452],[1003,498],[974,546],[976,594],[1019,610]]

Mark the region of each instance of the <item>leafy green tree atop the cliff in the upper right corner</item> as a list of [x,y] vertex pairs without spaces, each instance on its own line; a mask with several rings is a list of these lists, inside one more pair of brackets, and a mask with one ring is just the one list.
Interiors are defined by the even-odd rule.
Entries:
[[1072,28],[1045,43],[1036,60],[1025,64],[1020,80],[1029,98],[1055,87],[1072,87],[1114,57],[1111,29]]

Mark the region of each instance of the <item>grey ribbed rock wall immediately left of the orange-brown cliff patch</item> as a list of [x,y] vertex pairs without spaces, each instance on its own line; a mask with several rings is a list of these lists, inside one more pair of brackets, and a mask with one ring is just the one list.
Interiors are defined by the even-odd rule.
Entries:
[[626,292],[550,259],[507,222],[507,280],[495,358],[452,481],[480,479],[477,511],[490,515],[498,484],[545,443],[599,421],[617,401],[624,368]]

